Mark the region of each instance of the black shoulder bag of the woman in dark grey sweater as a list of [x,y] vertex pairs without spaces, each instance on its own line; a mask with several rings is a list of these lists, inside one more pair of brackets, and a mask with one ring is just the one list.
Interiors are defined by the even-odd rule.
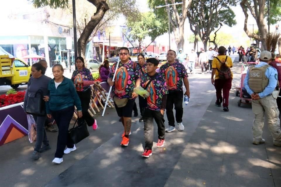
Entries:
[[[38,94],[40,95],[40,97],[37,97]],[[39,116],[46,115],[46,108],[45,102],[43,100],[42,90],[39,89],[35,93],[35,97],[28,97],[26,103],[26,113]]]

